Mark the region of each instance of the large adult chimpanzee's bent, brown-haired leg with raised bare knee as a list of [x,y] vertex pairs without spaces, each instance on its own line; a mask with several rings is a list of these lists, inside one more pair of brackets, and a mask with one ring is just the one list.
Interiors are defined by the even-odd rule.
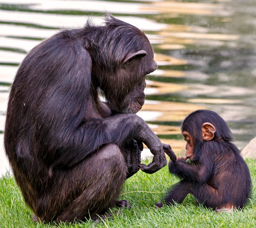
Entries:
[[127,167],[118,146],[111,144],[69,170],[56,174],[54,186],[38,200],[37,216],[49,222],[85,220],[115,206]]

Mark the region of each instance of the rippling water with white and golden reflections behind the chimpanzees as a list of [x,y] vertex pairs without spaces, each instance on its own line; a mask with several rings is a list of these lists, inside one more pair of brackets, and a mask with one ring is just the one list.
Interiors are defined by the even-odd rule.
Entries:
[[256,136],[256,2],[0,0],[0,173],[11,83],[26,53],[63,28],[95,24],[102,13],[142,29],[158,69],[147,76],[138,113],[163,142],[184,153],[183,118],[195,109],[218,112],[242,149]]

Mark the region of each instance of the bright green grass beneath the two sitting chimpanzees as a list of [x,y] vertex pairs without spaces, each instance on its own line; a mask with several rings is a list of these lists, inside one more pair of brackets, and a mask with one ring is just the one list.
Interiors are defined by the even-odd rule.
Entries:
[[[62,223],[59,227],[255,227],[256,224],[256,159],[247,159],[251,178],[252,194],[246,207],[233,213],[215,213],[196,203],[193,196],[188,195],[182,204],[154,207],[164,197],[168,188],[179,181],[168,173],[164,167],[154,174],[139,171],[129,178],[124,186],[120,199],[129,200],[132,208],[115,214],[110,220],[99,223],[87,221],[83,223]],[[117,208],[112,209],[112,211]],[[32,212],[25,206],[21,193],[10,175],[0,179],[0,227],[57,227],[50,224],[36,223],[31,220]]]

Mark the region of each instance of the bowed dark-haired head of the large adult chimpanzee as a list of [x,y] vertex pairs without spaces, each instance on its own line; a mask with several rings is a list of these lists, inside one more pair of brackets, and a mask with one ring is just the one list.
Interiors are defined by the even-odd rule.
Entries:
[[113,111],[137,113],[145,101],[145,76],[157,68],[152,46],[141,30],[112,16],[102,33],[94,66],[99,87]]

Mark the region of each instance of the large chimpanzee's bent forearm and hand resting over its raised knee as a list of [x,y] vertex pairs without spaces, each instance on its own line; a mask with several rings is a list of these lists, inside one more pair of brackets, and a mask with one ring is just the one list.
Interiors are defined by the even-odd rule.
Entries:
[[144,142],[154,154],[149,168],[143,166],[146,172],[154,173],[167,163],[162,143],[144,120],[135,114],[118,114],[106,119],[90,119],[76,128],[65,129],[65,132],[59,131],[50,135],[48,141],[52,145],[55,144],[56,150],[44,154],[43,159],[47,160],[48,164],[53,162],[54,166],[74,166],[102,145],[114,143],[121,146],[123,142],[131,139]]

